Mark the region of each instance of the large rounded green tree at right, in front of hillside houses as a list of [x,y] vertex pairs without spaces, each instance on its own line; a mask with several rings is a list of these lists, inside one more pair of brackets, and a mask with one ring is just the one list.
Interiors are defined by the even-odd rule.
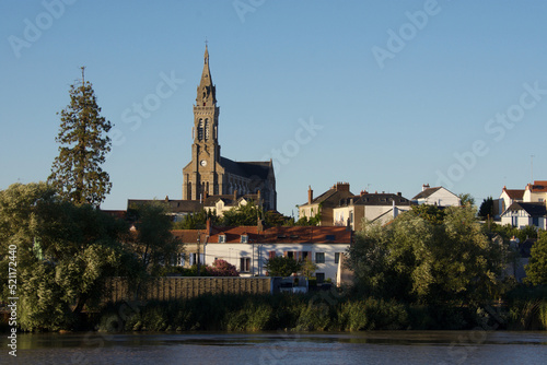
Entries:
[[414,209],[357,233],[349,264],[363,291],[428,304],[477,303],[492,292],[505,247],[481,233],[470,204],[435,210]]

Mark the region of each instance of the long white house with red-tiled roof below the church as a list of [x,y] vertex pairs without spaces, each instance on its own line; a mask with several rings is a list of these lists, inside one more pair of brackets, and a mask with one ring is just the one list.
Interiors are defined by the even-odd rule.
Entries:
[[[317,264],[317,283],[336,282],[340,256],[351,244],[352,233],[346,227],[209,227],[209,231],[175,229],[173,234],[185,244],[185,259],[178,264],[212,264],[222,259],[237,268],[242,276],[267,275],[268,258],[290,257],[312,260]],[[198,244],[199,239],[199,244]]]

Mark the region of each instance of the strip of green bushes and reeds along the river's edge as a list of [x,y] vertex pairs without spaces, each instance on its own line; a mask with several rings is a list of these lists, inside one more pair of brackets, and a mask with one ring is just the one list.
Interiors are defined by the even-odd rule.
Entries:
[[350,292],[203,295],[110,304],[91,318],[101,331],[547,330],[546,291],[516,290],[504,305],[403,304]]

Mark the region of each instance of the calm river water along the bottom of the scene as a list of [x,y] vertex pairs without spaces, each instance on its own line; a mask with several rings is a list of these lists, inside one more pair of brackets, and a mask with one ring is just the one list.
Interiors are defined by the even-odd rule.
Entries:
[[50,333],[1,364],[547,364],[547,332]]

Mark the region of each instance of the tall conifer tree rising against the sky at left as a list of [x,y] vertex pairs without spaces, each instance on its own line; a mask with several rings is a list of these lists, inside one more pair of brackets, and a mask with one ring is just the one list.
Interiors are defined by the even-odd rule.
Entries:
[[60,113],[61,125],[56,142],[59,156],[48,180],[67,200],[98,207],[110,191],[112,182],[101,168],[110,151],[107,133],[112,128],[102,117],[92,84],[85,81],[70,86],[70,104]]

